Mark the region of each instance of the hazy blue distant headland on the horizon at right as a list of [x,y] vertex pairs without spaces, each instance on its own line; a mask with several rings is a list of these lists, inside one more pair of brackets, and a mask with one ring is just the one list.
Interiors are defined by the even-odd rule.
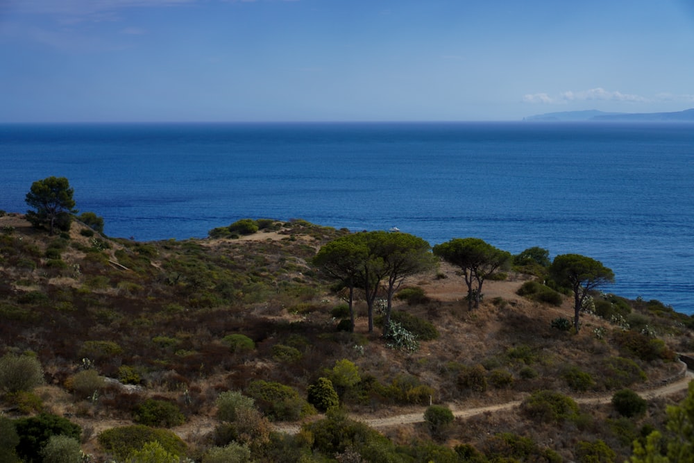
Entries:
[[548,112],[523,117],[523,121],[694,122],[694,108],[676,112],[603,112],[598,110]]

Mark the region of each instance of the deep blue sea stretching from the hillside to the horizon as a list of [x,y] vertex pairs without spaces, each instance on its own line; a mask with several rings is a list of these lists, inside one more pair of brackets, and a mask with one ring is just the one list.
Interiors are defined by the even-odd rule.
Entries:
[[0,209],[26,212],[33,181],[65,176],[110,236],[397,226],[588,255],[613,269],[609,292],[694,313],[692,124],[5,125],[0,173]]

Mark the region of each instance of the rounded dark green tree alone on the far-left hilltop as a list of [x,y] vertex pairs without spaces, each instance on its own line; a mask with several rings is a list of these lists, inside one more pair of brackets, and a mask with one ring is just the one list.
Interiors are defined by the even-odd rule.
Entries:
[[26,203],[35,210],[28,210],[26,218],[35,227],[48,226],[53,235],[56,228],[69,230],[71,215],[77,211],[72,199],[74,189],[65,177],[48,177],[36,180],[26,194]]

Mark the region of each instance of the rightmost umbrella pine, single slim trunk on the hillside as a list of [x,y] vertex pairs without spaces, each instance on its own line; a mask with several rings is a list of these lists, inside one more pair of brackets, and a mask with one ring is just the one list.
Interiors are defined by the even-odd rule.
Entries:
[[568,287],[574,296],[573,326],[578,332],[578,317],[583,301],[593,289],[614,282],[614,273],[599,260],[580,254],[561,254],[555,257],[549,269],[555,283]]

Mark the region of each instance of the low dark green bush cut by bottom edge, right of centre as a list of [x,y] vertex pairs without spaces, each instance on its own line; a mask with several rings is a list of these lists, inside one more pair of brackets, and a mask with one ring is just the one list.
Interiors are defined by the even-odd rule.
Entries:
[[541,448],[530,437],[501,432],[484,442],[484,453],[490,462],[561,463],[561,457],[549,448]]

